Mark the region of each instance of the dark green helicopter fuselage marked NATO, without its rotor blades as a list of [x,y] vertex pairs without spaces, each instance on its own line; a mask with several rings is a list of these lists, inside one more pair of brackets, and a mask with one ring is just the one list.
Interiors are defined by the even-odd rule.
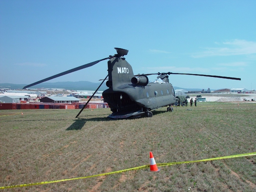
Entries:
[[[113,114],[110,118],[132,118],[176,102],[172,84],[148,83],[146,75],[133,75],[131,65],[124,57],[115,57],[108,61],[109,89],[102,96]],[[136,113],[136,114],[134,114]]]

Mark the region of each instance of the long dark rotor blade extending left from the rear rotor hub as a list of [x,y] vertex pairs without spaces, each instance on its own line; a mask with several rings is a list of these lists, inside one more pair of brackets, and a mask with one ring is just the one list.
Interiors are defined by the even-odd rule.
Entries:
[[50,76],[50,77],[48,77],[48,78],[39,80],[39,81],[37,81],[37,82],[35,82],[35,83],[29,84],[29,85],[23,87],[22,89],[26,89],[27,87],[31,87],[31,86],[33,86],[33,85],[36,85],[36,84],[39,84],[39,83],[43,83],[43,82],[46,82],[46,81],[51,80],[51,79],[54,79],[54,78],[57,78],[57,77],[60,77],[60,76],[63,76],[63,75],[67,75],[67,74],[69,74],[69,73],[78,71],[78,70],[80,70],[80,69],[84,69],[84,68],[87,68],[87,67],[91,67],[91,66],[93,66],[93,65],[95,65],[95,64],[97,64],[97,63],[99,63],[100,61],[103,61],[103,60],[106,60],[106,59],[111,59],[111,58],[113,58],[113,56],[109,56],[109,57],[106,57],[106,58],[101,59],[101,60],[98,60],[98,61],[94,61],[94,62],[91,62],[91,63],[87,63],[87,64],[85,64],[85,65],[81,65],[80,67],[76,67],[76,68],[73,68],[73,69],[69,69],[68,71],[64,71],[64,72],[59,73],[59,74],[57,74],[57,75],[53,75],[53,76]]

